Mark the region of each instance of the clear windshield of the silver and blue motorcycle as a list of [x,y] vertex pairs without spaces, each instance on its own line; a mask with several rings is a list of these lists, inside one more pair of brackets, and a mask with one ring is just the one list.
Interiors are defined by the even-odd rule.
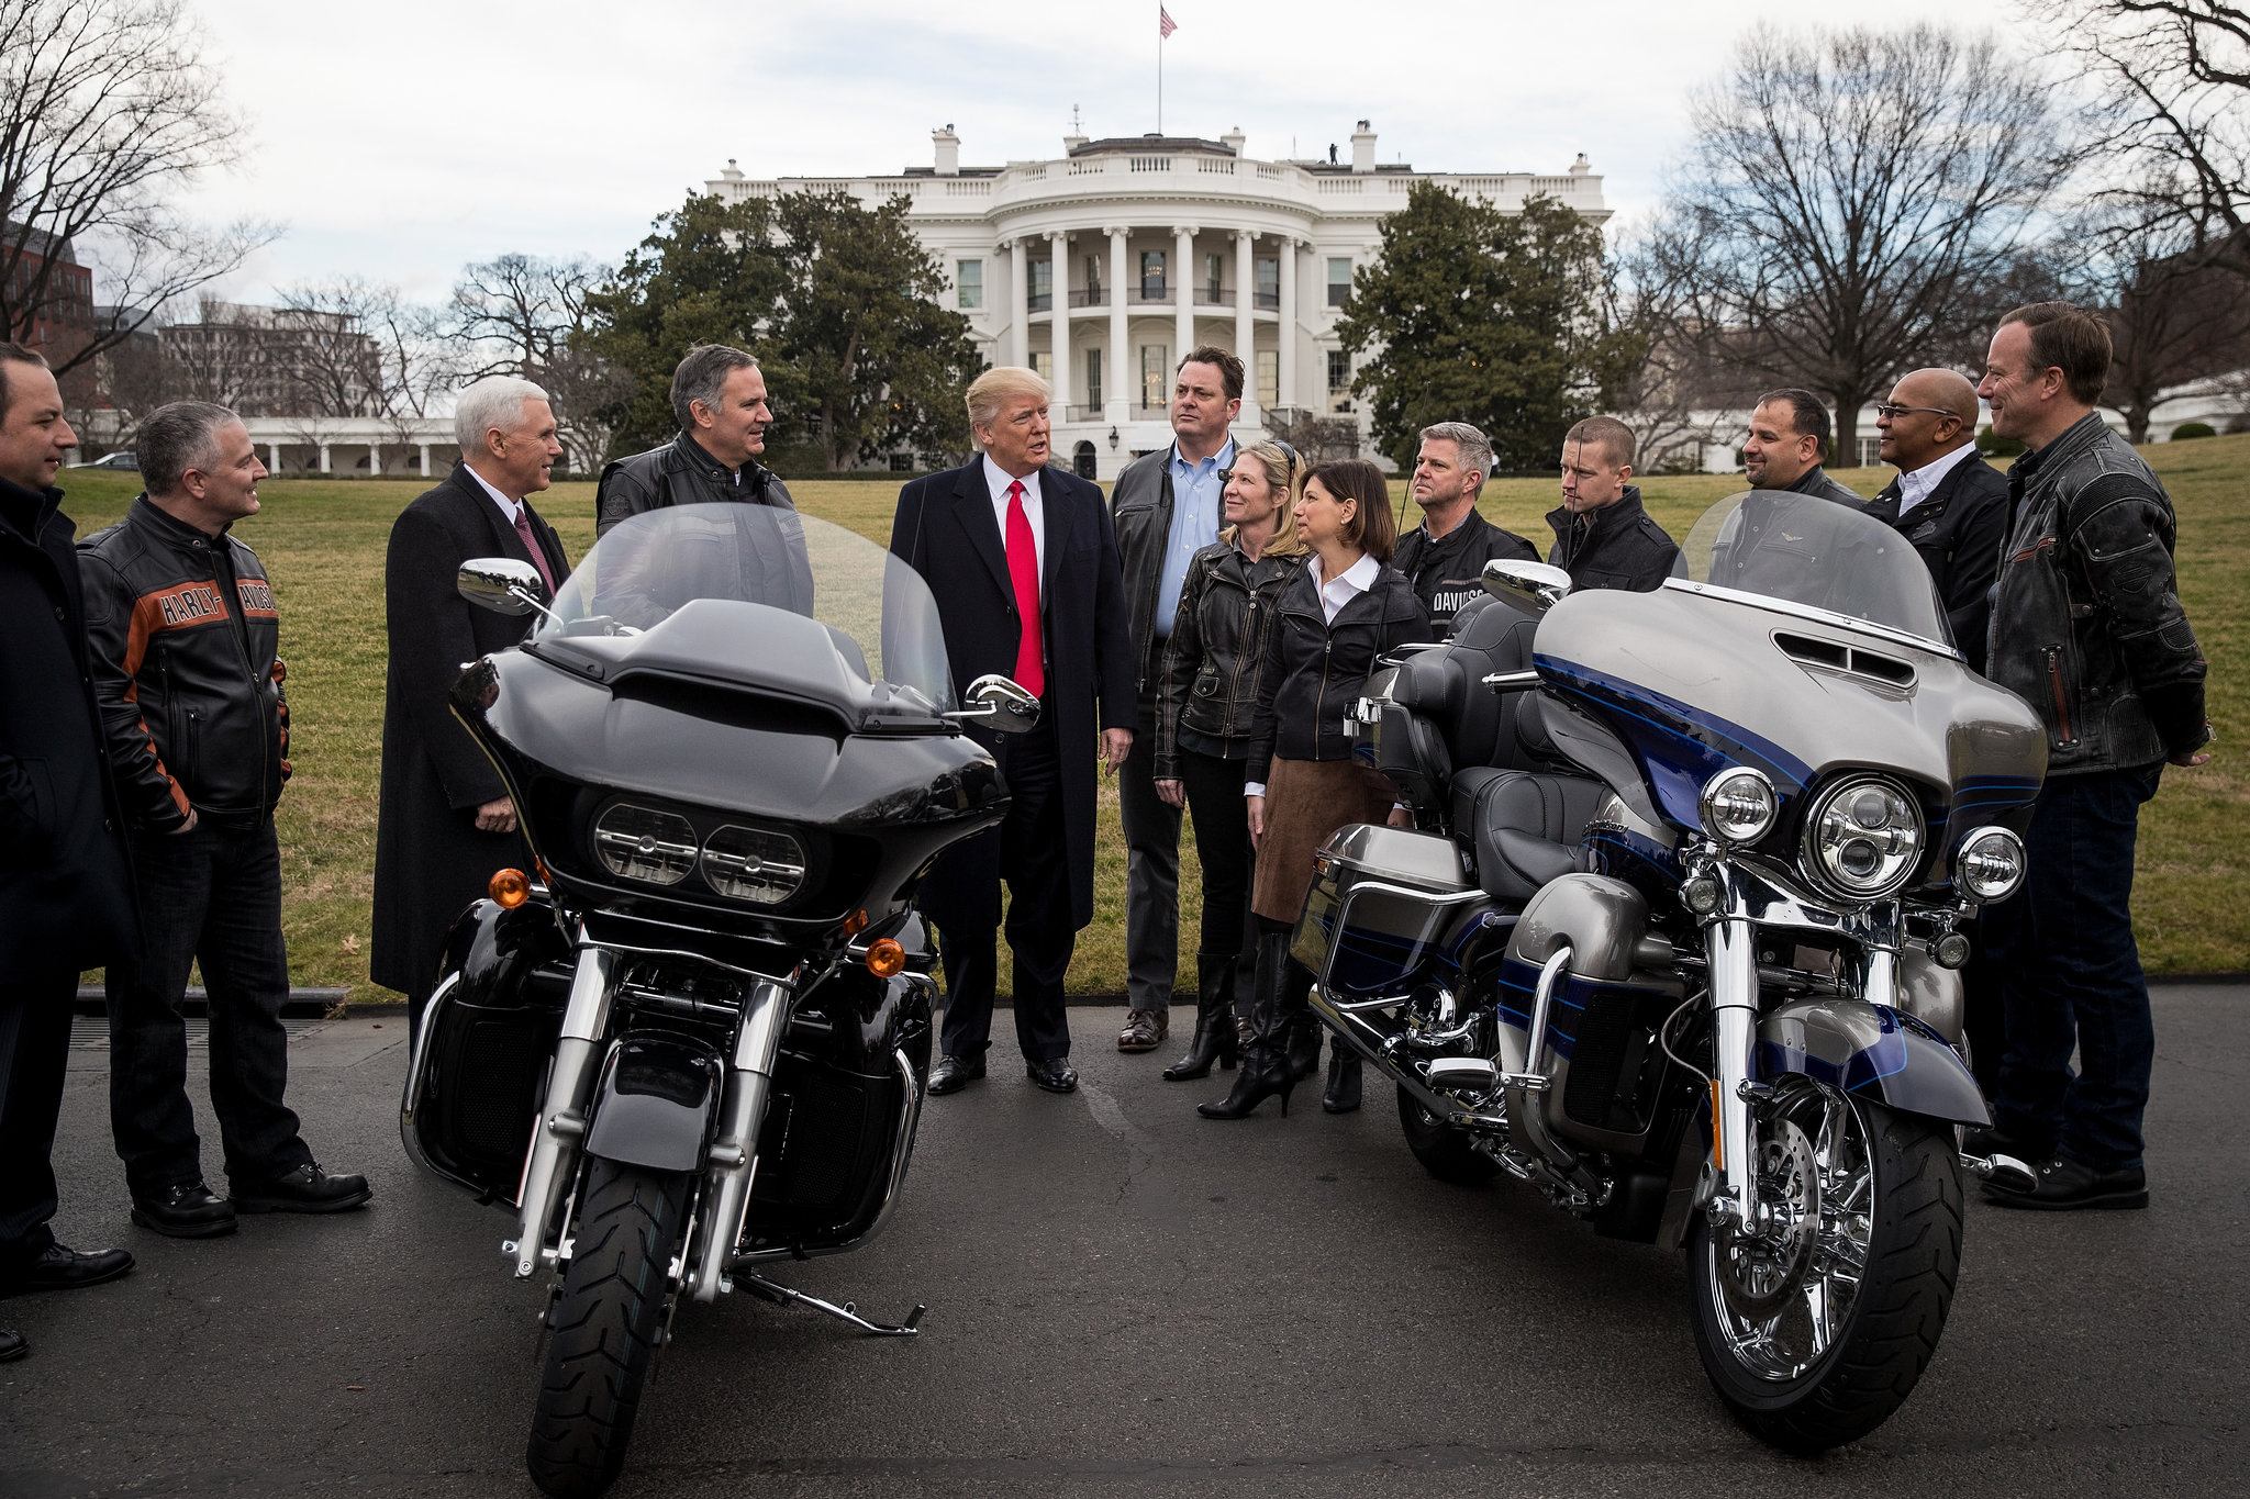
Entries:
[[1930,569],[1906,537],[1834,499],[1748,490],[1721,499],[1688,533],[1688,582],[1840,625],[1872,625],[1917,645],[1953,649]]

